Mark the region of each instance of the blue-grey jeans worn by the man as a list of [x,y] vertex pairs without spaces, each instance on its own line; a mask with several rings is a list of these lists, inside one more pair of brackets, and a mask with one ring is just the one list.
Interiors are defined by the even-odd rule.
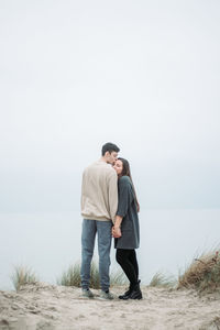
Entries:
[[90,280],[90,266],[94,255],[96,233],[98,233],[99,277],[102,290],[110,286],[109,267],[111,250],[111,221],[87,220],[82,221],[81,233],[81,287],[88,288]]

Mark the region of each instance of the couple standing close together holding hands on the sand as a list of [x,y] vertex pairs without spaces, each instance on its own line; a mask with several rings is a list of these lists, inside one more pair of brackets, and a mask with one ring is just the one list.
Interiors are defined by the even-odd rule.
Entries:
[[129,162],[118,158],[120,148],[106,143],[101,158],[88,166],[81,184],[81,288],[82,296],[92,298],[89,289],[90,264],[98,234],[99,276],[102,299],[113,299],[109,292],[110,249],[114,238],[117,262],[130,282],[129,290],[120,299],[141,299],[139,265],[139,202],[131,178]]

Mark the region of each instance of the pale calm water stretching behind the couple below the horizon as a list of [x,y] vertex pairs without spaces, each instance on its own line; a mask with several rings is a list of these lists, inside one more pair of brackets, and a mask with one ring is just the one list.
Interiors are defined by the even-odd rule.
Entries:
[[[162,271],[178,275],[197,253],[220,243],[220,209],[142,210],[140,277]],[[80,258],[81,218],[68,213],[0,215],[0,289],[12,289],[14,265],[28,265],[41,280],[56,283]],[[95,252],[97,256],[97,250]],[[112,268],[114,250],[111,251]]]

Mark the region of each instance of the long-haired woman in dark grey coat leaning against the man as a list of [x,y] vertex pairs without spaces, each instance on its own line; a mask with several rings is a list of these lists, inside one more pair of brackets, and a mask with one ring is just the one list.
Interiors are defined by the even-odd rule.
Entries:
[[138,216],[140,207],[131,178],[129,162],[120,157],[117,160],[113,168],[119,177],[119,204],[116,222],[112,228],[112,235],[116,239],[114,248],[117,249],[116,258],[130,280],[129,290],[124,295],[119,296],[119,298],[124,300],[142,299],[139,264],[135,253],[140,242]]

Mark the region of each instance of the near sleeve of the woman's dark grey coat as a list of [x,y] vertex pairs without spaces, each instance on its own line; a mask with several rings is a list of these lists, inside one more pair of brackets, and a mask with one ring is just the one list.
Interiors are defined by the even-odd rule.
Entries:
[[133,191],[128,179],[119,179],[119,202],[117,216],[125,217],[130,205],[133,201]]

